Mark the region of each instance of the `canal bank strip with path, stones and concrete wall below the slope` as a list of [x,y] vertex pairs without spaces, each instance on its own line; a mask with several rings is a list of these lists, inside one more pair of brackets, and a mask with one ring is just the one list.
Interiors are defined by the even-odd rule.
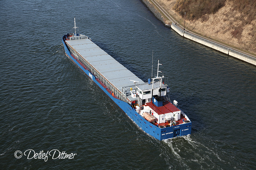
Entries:
[[[224,44],[221,44],[219,42],[210,40],[206,37],[202,37],[200,35],[197,35],[195,33],[192,33],[191,31],[188,32],[186,29],[183,30],[180,27],[180,24],[175,21],[174,18],[170,16],[169,13],[165,11],[164,8],[162,8],[158,2],[155,0],[141,0],[146,7],[154,14],[156,18],[158,18],[162,23],[166,24],[167,27],[171,27],[175,32],[177,32],[179,35],[183,36],[184,38],[193,40],[195,42],[198,42],[199,44],[205,45],[207,47],[210,47],[214,50],[217,50],[219,52],[225,53],[228,56],[237,58],[238,60],[250,63],[254,66],[256,66],[256,56],[245,53],[243,51],[239,51],[237,49],[232,49],[232,47],[226,46]],[[163,15],[168,18],[169,20],[164,21]],[[171,24],[170,24],[171,22]]]

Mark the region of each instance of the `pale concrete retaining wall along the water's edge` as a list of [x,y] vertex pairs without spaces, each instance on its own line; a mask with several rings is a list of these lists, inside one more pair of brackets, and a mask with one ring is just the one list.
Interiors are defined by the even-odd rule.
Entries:
[[175,32],[177,32],[178,34],[180,34],[181,36],[183,36],[183,37],[185,37],[187,39],[196,41],[199,44],[205,45],[205,46],[210,47],[210,48],[212,48],[214,50],[220,51],[220,52],[225,53],[225,54],[227,54],[229,56],[232,56],[234,58],[237,58],[239,60],[245,61],[247,63],[253,64],[253,65],[256,66],[256,58],[254,58],[254,57],[251,57],[251,56],[246,55],[244,53],[238,52],[238,51],[233,50],[231,48],[222,46],[220,44],[217,44],[217,43],[215,43],[213,41],[209,41],[209,40],[204,39],[202,37],[193,35],[193,34],[188,33],[186,31],[183,31],[181,28],[176,26],[174,23],[172,23],[171,28],[173,30],[175,30]]

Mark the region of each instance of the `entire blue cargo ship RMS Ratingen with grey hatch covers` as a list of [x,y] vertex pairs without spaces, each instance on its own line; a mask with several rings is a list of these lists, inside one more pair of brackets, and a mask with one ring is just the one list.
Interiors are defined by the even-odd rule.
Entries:
[[[74,18],[75,23],[75,18]],[[95,82],[144,132],[158,140],[191,134],[191,121],[170,101],[164,75],[144,82],[98,47],[88,36],[74,32],[62,37],[64,50],[88,77]],[[153,67],[152,67],[153,68]],[[153,69],[152,69],[153,70]]]

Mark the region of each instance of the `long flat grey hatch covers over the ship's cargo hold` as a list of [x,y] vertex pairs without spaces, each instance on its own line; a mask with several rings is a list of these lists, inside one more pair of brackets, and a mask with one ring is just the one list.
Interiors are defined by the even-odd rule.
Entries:
[[122,87],[133,86],[134,83],[130,80],[138,81],[138,84],[144,84],[144,81],[117,62],[90,39],[69,40],[66,43],[119,91],[122,91]]

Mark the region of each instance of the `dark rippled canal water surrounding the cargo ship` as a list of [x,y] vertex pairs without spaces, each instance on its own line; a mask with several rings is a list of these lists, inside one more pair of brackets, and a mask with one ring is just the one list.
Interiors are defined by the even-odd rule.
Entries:
[[[0,169],[255,169],[255,66],[183,39],[139,0],[2,0],[0,11]],[[154,50],[191,136],[145,134],[65,56],[74,17],[142,80]],[[76,155],[28,159],[28,149]]]

